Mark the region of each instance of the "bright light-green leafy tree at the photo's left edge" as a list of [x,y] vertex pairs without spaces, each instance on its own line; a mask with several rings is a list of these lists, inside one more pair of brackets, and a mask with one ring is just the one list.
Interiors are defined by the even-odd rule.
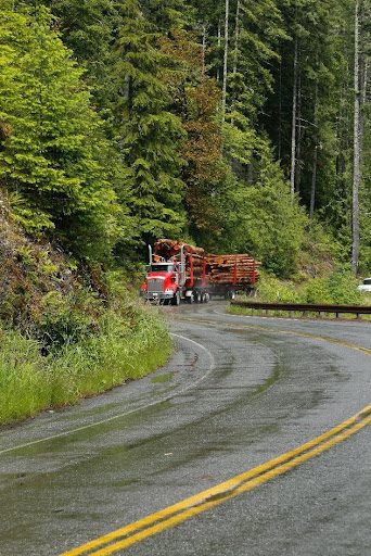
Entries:
[[[120,233],[103,166],[108,147],[81,71],[52,25],[43,7],[2,13],[0,119],[11,132],[0,149],[0,179],[27,231],[55,230],[87,256],[92,237],[100,238],[97,256],[106,256]],[[86,243],[77,241],[85,236]]]

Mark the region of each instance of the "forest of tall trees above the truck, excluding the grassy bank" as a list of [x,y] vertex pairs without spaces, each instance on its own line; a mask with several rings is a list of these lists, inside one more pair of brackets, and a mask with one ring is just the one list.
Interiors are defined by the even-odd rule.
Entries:
[[102,265],[175,237],[367,274],[370,5],[0,0],[3,202]]

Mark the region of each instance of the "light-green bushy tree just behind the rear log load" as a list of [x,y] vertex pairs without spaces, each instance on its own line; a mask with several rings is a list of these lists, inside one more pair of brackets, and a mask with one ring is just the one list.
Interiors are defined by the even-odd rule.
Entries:
[[263,147],[253,185],[239,182],[231,193],[228,237],[235,252],[248,252],[280,277],[298,270],[306,216],[292,199],[282,173]]

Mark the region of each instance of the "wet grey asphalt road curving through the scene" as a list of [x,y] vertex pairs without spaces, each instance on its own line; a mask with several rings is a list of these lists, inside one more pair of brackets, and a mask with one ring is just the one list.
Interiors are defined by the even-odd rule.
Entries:
[[116,551],[123,532],[74,553],[292,453],[370,404],[370,324],[223,309],[164,307],[177,344],[167,367],[0,429],[1,556],[371,553],[370,427],[276,478],[259,475],[246,492],[228,486],[209,507],[203,495],[191,510],[184,503],[189,519],[138,534],[125,551]]

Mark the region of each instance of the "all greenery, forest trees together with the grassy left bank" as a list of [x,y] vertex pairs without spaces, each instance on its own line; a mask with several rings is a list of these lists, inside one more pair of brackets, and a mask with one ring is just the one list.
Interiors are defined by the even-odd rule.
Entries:
[[370,33],[370,0],[0,0],[0,421],[166,361],[133,301],[157,238],[349,301]]

